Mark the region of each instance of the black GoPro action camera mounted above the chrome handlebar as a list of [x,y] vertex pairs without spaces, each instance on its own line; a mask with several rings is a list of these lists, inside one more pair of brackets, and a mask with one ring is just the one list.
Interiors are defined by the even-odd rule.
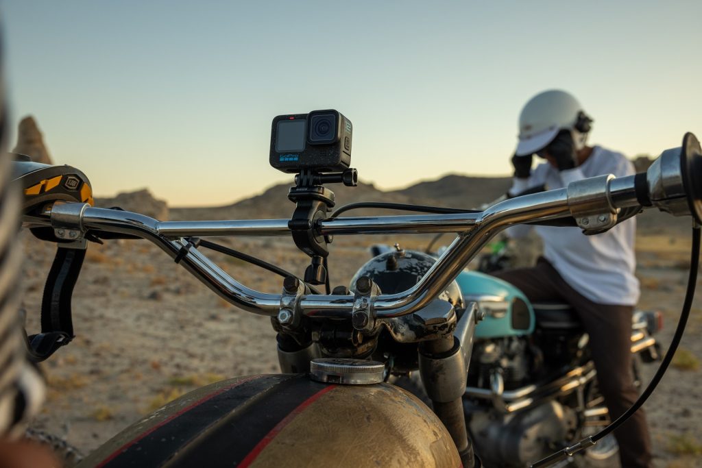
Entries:
[[351,121],[336,110],[273,119],[270,165],[284,173],[342,172],[351,163]]

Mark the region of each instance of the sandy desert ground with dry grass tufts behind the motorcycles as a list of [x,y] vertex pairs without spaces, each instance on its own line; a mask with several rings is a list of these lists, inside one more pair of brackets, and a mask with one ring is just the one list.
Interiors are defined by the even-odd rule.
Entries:
[[[408,239],[408,238],[404,238]],[[27,328],[39,329],[41,291],[54,246],[23,239],[27,249],[24,307]],[[416,241],[404,241],[411,246]],[[301,272],[304,255],[291,243],[234,241],[277,265]],[[366,241],[333,246],[333,284],[347,283],[368,258]],[[640,236],[640,307],[665,314],[659,335],[670,342],[687,279],[689,241],[682,237]],[[247,286],[267,292],[279,277],[237,260],[213,259]],[[694,306],[683,340],[685,359],[676,361],[647,403],[657,467],[702,466],[701,394],[702,305]],[[228,305],[146,241],[91,245],[74,292],[74,342],[43,364],[48,401],[34,426],[65,437],[89,452],[113,434],[166,401],[225,377],[277,371],[270,320]],[[645,380],[654,366],[644,368]]]

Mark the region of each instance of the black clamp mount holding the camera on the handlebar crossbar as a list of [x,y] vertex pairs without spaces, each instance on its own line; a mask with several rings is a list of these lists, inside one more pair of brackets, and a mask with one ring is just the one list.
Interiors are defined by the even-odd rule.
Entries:
[[288,199],[296,203],[291,220],[288,222],[295,245],[312,258],[305,269],[305,283],[324,284],[326,269],[324,258],[329,255],[327,244],[331,238],[317,232],[317,223],[326,218],[334,207],[334,192],[323,186],[325,183],[343,183],[347,187],[358,185],[358,173],[349,168],[341,173],[316,173],[303,170],[295,176],[296,186],[291,187]]

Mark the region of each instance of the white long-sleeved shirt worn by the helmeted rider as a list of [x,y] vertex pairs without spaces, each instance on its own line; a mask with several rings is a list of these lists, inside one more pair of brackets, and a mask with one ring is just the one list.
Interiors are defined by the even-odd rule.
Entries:
[[[559,172],[549,163],[539,164],[528,180],[515,178],[510,193],[537,185],[545,185],[547,190],[560,189],[574,180],[595,175],[623,177],[634,173],[633,164],[623,154],[595,146],[584,163],[569,171]],[[585,236],[579,227],[529,225],[510,227],[508,236],[525,236],[531,227],[543,239],[543,256],[578,293],[598,304],[636,305],[640,290],[634,275],[635,218],[593,236]]]

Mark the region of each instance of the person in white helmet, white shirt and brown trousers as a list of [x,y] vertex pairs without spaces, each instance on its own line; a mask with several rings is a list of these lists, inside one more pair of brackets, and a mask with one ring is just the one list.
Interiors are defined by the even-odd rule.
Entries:
[[[519,116],[519,142],[512,165],[510,195],[531,187],[567,187],[596,175],[632,175],[623,154],[586,145],[592,119],[564,91],[545,91],[531,98]],[[545,162],[531,169],[534,154]],[[510,228],[521,237],[529,225]],[[578,227],[536,226],[543,258],[536,267],[496,274],[521,289],[529,300],[559,300],[571,305],[590,335],[597,381],[612,420],[637,399],[631,375],[631,318],[639,298],[634,276],[635,220],[625,220],[604,234],[585,236]],[[651,443],[646,418],[638,410],[614,435],[622,466],[650,467]]]

